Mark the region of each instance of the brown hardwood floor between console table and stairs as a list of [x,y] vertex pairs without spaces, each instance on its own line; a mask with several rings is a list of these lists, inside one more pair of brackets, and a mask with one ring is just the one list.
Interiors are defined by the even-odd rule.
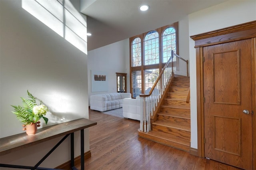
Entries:
[[[86,170],[239,170],[138,137],[139,121],[89,110],[92,157]],[[77,168],[80,168],[77,166]]]

